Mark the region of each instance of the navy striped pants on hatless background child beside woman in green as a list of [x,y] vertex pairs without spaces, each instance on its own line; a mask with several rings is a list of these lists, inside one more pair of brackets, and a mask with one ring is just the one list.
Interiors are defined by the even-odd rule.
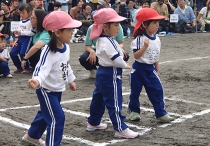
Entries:
[[[14,46],[12,50],[10,51],[11,59],[14,63],[14,65],[20,69],[21,68],[21,62],[25,54],[28,52],[28,50],[31,47],[32,37],[28,36],[19,36],[17,46]],[[20,55],[20,59],[18,57]],[[26,63],[25,69],[29,69],[29,62]]]

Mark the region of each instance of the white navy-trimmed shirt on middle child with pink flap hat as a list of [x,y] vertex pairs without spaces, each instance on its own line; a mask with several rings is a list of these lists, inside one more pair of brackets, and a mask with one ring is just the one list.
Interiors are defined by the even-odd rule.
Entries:
[[96,42],[96,56],[99,64],[104,67],[126,68],[127,66],[119,44],[107,36],[99,37]]

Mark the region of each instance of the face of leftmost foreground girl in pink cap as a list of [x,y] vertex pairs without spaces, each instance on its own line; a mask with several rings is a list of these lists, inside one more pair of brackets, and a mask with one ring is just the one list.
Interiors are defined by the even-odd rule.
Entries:
[[66,28],[63,31],[58,30],[59,32],[56,34],[59,41],[62,43],[69,43],[72,36],[72,29]]

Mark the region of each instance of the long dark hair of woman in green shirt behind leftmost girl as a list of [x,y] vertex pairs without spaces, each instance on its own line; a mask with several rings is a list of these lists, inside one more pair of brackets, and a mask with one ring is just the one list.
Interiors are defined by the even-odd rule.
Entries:
[[34,10],[34,14],[36,15],[37,18],[37,32],[42,32],[44,29],[44,27],[42,26],[42,22],[45,18],[45,16],[47,15],[47,12],[42,10],[42,9],[35,9]]

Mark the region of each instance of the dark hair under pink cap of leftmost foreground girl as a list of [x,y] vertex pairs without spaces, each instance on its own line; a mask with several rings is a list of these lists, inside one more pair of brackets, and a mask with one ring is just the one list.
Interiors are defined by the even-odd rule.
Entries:
[[[58,31],[63,32],[66,28],[63,29],[59,29]],[[50,51],[56,53],[57,52],[57,37],[55,35],[54,32],[52,31],[48,31],[48,33],[50,34],[50,42],[49,42],[49,49]]]

